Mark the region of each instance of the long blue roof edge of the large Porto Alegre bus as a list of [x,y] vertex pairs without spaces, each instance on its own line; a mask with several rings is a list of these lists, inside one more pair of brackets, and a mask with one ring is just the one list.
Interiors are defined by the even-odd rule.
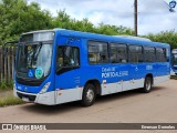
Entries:
[[[107,42],[119,42],[119,43],[129,43],[129,44],[147,44],[152,47],[165,47],[168,48],[168,43],[162,42],[153,42],[146,38],[133,37],[133,35],[106,35],[106,34],[98,34],[98,33],[91,33],[91,32],[82,32],[82,31],[74,31],[74,30],[66,30],[66,29],[53,29],[53,30],[39,30],[39,31],[31,31],[23,34],[29,33],[39,33],[39,32],[52,32],[66,35],[66,37],[76,37],[76,38],[85,38],[90,40],[97,40],[97,41],[107,41]],[[22,34],[22,35],[23,35]]]

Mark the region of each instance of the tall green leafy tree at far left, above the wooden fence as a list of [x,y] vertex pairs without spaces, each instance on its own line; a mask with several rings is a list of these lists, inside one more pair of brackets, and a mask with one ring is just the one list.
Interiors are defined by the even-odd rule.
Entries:
[[22,32],[52,28],[49,11],[41,10],[35,2],[2,0],[0,2],[0,43],[18,39]]

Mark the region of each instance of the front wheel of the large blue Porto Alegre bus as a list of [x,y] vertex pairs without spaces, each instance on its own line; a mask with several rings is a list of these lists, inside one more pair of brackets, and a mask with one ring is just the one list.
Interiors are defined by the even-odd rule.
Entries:
[[93,84],[86,84],[83,90],[82,105],[91,106],[95,102],[96,93]]

